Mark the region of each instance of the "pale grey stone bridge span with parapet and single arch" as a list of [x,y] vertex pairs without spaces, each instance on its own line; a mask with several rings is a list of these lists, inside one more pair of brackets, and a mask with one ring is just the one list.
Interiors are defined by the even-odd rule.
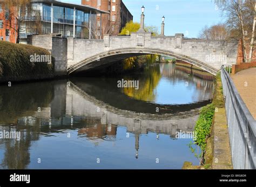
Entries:
[[184,39],[183,34],[153,37],[151,33],[108,36],[103,40],[68,38],[68,74],[75,74],[133,56],[160,54],[217,74],[221,65],[235,64],[237,41]]

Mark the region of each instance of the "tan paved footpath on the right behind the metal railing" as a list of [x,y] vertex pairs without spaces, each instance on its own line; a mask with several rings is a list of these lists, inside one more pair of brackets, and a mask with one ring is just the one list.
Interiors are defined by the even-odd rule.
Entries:
[[240,71],[231,75],[231,78],[242,100],[256,120],[256,67]]

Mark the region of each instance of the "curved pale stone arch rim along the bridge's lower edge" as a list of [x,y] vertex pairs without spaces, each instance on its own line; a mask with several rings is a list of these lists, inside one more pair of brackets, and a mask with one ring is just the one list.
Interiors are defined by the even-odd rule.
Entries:
[[79,61],[77,64],[68,68],[68,74],[75,74],[78,72],[83,72],[89,70],[91,68],[95,68],[104,64],[113,63],[114,61],[126,59],[134,56],[142,56],[145,54],[160,54],[163,56],[173,57],[179,60],[186,61],[192,65],[198,66],[201,69],[216,75],[218,70],[210,65],[203,63],[197,59],[185,56],[184,54],[179,54],[173,51],[154,49],[154,48],[146,48],[146,47],[127,47],[122,49],[114,49],[110,51],[104,51],[102,53],[98,53],[94,56],[85,58],[82,61]]

